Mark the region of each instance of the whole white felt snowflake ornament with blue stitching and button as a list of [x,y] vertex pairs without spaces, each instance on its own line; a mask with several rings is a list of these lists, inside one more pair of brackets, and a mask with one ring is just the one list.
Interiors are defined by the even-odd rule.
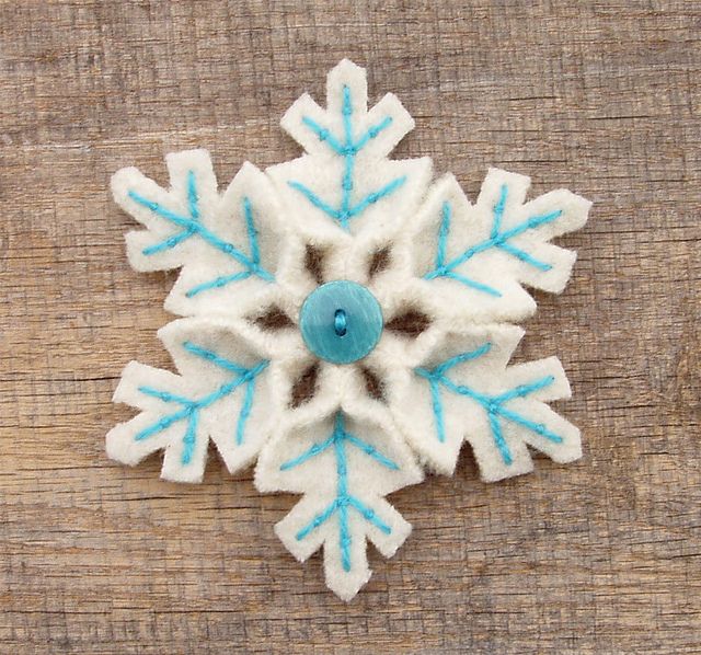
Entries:
[[209,440],[234,473],[257,460],[262,492],[301,501],[276,532],[300,561],[323,547],[326,583],[349,600],[369,579],[367,542],[391,556],[411,526],[386,501],[424,471],[450,474],[469,441],[485,481],[556,462],[579,433],[548,402],[570,395],[551,357],[508,366],[512,322],[559,292],[575,254],[550,240],[584,225],[568,191],[526,202],[528,177],[493,169],[474,204],[428,158],[390,160],[414,123],[386,95],[367,108],[344,60],[326,108],[302,95],[283,127],[304,149],[219,192],[205,150],[166,157],[170,188],[114,175],[138,271],[181,268],[159,332],[179,375],[131,363],[114,400],[140,413],[107,435],[136,464],[199,482]]

